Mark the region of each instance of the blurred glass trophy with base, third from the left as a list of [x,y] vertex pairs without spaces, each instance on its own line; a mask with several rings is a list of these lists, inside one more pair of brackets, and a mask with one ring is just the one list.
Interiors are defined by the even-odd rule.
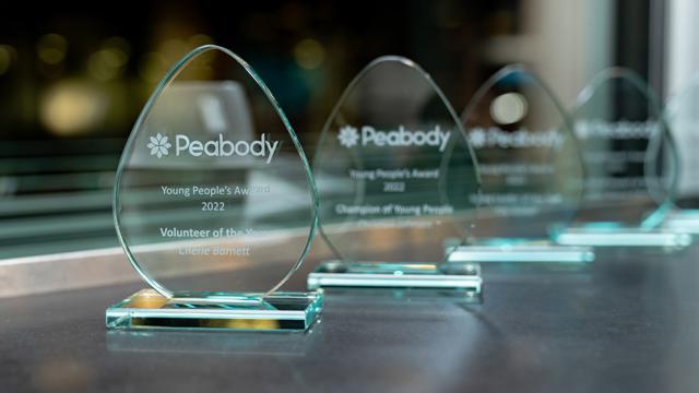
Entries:
[[555,243],[578,209],[583,168],[566,112],[521,66],[495,73],[462,116],[482,181],[472,243],[451,261],[572,263],[594,260],[588,247]]

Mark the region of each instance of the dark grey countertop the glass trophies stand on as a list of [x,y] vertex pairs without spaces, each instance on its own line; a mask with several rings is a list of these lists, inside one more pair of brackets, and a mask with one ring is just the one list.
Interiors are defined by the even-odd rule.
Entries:
[[482,305],[329,293],[308,334],[107,332],[140,284],[5,299],[0,392],[696,392],[698,255],[488,269]]

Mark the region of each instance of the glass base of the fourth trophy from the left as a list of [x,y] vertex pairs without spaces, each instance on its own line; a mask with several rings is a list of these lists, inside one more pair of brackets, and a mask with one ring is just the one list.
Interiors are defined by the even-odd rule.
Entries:
[[556,238],[566,246],[685,248],[691,236],[665,229],[569,228]]

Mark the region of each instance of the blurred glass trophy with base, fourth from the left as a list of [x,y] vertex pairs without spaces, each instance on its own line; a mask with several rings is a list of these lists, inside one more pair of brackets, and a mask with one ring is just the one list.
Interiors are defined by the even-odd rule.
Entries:
[[657,99],[640,76],[611,68],[580,93],[572,111],[583,152],[585,192],[565,245],[686,246],[687,234],[660,228],[678,175],[677,152]]

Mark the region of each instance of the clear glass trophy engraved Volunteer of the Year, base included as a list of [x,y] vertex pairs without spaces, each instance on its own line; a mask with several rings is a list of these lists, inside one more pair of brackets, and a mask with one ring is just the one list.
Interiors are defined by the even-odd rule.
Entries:
[[318,195],[276,100],[217,46],[182,58],[149,99],[114,186],[121,246],[151,289],[109,329],[305,331],[322,295],[279,288],[307,255]]

